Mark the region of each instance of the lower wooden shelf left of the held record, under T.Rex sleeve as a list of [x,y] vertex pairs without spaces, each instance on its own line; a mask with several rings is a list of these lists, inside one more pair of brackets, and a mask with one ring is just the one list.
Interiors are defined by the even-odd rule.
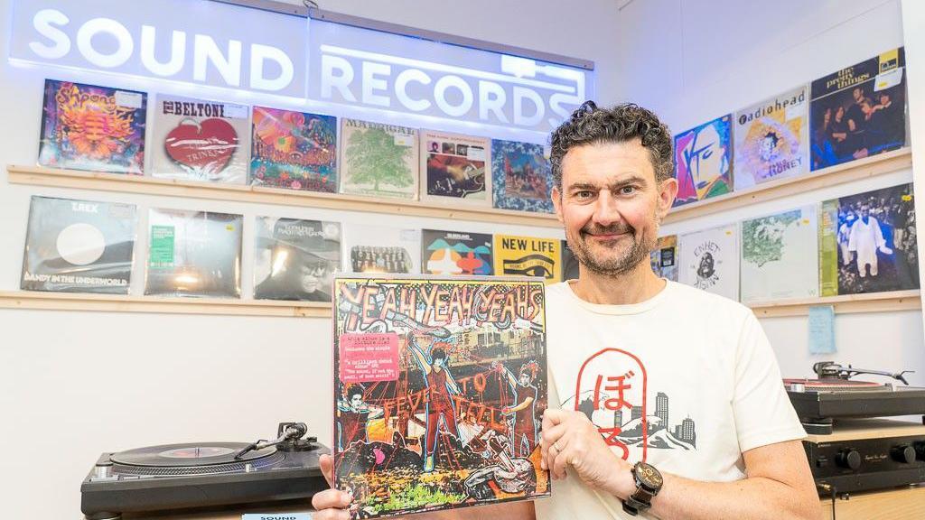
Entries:
[[330,317],[331,304],[219,298],[159,298],[74,292],[0,291],[0,308],[189,315]]

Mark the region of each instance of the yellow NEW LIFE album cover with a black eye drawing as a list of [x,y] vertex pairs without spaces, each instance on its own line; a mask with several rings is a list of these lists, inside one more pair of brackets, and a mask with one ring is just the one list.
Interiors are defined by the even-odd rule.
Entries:
[[561,240],[495,235],[495,274],[562,279]]

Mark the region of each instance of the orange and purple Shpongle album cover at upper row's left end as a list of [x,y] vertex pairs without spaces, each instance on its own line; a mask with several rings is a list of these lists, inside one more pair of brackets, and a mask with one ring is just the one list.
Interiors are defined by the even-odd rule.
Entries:
[[146,93],[45,80],[39,165],[144,173]]

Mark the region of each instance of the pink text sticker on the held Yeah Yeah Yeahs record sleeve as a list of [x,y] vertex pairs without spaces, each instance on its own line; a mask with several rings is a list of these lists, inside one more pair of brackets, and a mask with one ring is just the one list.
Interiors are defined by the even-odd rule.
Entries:
[[399,378],[399,335],[341,334],[340,381],[366,383]]

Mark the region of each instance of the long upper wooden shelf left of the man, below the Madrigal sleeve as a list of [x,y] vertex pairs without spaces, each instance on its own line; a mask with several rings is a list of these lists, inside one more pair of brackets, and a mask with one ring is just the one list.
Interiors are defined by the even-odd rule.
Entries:
[[450,206],[450,204],[419,201],[388,200],[339,193],[299,192],[263,186],[212,184],[191,180],[154,179],[138,175],[87,172],[71,169],[9,165],[9,181],[32,186],[51,186],[101,192],[141,193],[168,197],[211,199],[257,204],[282,204],[302,207],[320,207],[383,213],[409,217],[448,218],[475,222],[497,222],[520,226],[559,228],[554,215],[528,213],[479,206]]

